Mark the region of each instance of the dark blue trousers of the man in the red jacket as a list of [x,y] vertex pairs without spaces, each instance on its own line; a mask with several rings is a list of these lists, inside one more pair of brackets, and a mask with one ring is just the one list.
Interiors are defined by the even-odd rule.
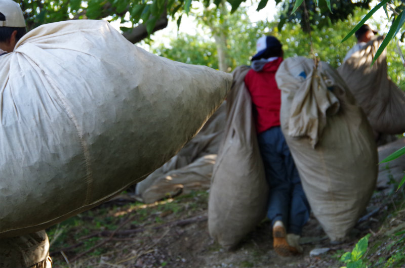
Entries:
[[272,224],[281,220],[287,233],[301,235],[310,207],[281,128],[274,126],[260,133],[258,142],[270,187],[267,217]]

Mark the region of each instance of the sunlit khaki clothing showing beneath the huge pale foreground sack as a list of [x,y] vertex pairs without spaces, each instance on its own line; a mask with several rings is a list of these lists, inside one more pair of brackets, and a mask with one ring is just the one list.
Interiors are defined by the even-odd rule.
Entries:
[[0,267],[2,268],[48,268],[49,240],[45,230],[18,237],[0,238]]

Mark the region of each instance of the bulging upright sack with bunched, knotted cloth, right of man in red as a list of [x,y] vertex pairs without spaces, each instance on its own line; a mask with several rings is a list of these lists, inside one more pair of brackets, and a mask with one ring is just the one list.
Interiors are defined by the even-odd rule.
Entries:
[[333,241],[343,240],[376,184],[377,148],[366,115],[336,70],[304,57],[276,73],[281,128],[311,209]]

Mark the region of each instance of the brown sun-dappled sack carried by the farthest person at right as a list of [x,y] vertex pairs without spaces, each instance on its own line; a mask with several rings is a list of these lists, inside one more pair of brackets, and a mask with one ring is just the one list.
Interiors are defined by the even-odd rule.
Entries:
[[369,41],[346,60],[338,72],[373,129],[379,133],[398,134],[405,132],[405,93],[387,74],[387,51],[384,50],[371,66],[382,41],[383,36]]

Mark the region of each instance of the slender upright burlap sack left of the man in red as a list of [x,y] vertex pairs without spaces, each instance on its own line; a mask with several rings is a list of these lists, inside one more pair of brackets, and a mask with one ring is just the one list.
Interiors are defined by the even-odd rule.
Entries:
[[233,72],[224,140],[214,165],[208,202],[210,235],[227,249],[259,224],[267,208],[268,186],[244,82],[248,71],[241,66]]

